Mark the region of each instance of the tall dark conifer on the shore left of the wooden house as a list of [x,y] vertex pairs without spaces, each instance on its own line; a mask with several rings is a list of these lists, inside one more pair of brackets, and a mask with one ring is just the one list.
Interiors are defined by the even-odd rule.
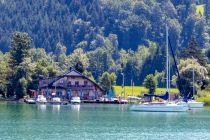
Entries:
[[8,96],[16,95],[16,98],[22,98],[26,94],[27,88],[27,65],[23,65],[25,59],[29,57],[31,37],[27,33],[15,32],[12,38],[12,48],[10,50],[9,66],[11,75],[9,75]]

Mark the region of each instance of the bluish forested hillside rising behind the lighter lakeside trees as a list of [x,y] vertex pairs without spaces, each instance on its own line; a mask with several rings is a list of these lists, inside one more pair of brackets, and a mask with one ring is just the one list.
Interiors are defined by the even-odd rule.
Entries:
[[134,50],[153,41],[164,44],[165,23],[174,46],[186,47],[195,36],[209,46],[209,0],[205,16],[196,15],[196,0],[1,0],[0,45],[8,51],[14,31],[29,33],[33,47],[53,52],[60,41],[68,53],[83,42],[85,50],[116,34],[119,48]]

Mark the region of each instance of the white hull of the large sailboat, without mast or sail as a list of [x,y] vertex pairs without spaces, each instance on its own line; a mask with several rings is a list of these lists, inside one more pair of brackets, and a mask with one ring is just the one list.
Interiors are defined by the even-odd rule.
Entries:
[[187,105],[179,105],[175,103],[143,103],[134,105],[130,108],[133,111],[142,111],[142,112],[185,112],[189,108]]

